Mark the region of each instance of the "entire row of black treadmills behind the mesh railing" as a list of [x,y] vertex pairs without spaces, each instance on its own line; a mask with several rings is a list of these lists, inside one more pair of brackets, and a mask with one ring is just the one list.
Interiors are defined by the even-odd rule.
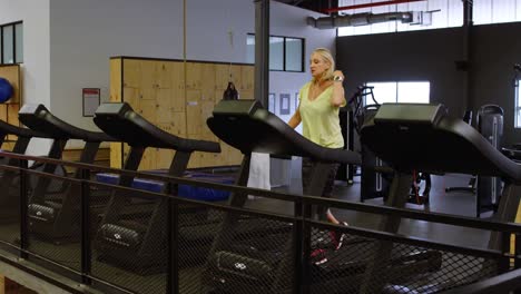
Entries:
[[[125,141],[131,148],[124,169],[137,170],[146,148],[168,148],[176,153],[166,173],[170,176],[184,176],[194,151],[220,150],[217,143],[184,139],[165,133],[136,114],[127,104],[104,104],[98,108],[94,121],[104,133],[76,128],[52,116],[41,105],[23,106],[19,119],[29,129],[0,121],[0,137],[8,134],[18,136],[13,148],[17,154],[26,151],[31,138],[42,137],[53,139],[48,157],[60,158],[67,140],[79,139],[86,143],[80,161],[92,164],[100,143]],[[283,158],[302,156],[317,160],[309,190],[305,190],[304,195],[321,194],[326,183],[327,173],[324,171],[328,163],[361,164],[360,155],[354,151],[328,149],[308,141],[255,100],[220,101],[207,125],[218,138],[243,153],[240,170],[233,180],[238,186],[247,184],[252,153],[266,153]],[[443,106],[383,105],[373,118],[365,121],[361,140],[395,170],[396,176],[386,205],[404,207],[412,170],[497,176],[503,178],[505,187],[495,217],[503,222],[514,220],[521,192],[521,167],[498,151],[463,120],[449,117]],[[18,165],[18,161],[9,159],[4,164]],[[48,164],[40,168],[42,173],[62,173],[56,165]],[[1,176],[0,190],[9,190],[16,186],[17,177],[13,171],[6,169]],[[82,175],[77,171],[75,177],[81,178]],[[140,179],[132,176],[98,175],[97,179],[203,200],[228,199],[228,205],[233,207],[244,207],[247,202],[247,195],[239,193],[228,195],[201,189],[194,193],[189,187],[181,190],[181,187],[173,189],[161,183],[140,183]],[[208,179],[217,183],[232,182],[230,178],[205,178]],[[79,224],[71,222],[80,212],[78,187],[66,185],[57,188],[53,187],[56,185],[52,185],[52,179],[46,177],[38,178],[30,186],[28,217],[31,233],[53,243],[78,239]],[[116,192],[111,194],[109,200],[102,205],[102,212],[98,214],[100,220],[96,225],[94,246],[98,258],[141,274],[147,271],[165,271],[168,233],[163,232],[164,226],[158,224],[166,218],[166,199],[129,202],[125,196],[131,195],[115,194]],[[2,218],[8,218],[9,212],[16,210],[19,205],[3,196],[0,202]],[[201,210],[186,205],[179,208],[179,213],[198,214]],[[194,218],[189,217],[186,219],[186,223],[179,224],[178,237],[183,244],[189,244],[184,247],[188,251],[186,256],[199,256],[199,259],[205,256],[204,265],[199,264],[204,267],[200,283],[217,293],[291,292],[294,281],[285,275],[292,272],[295,254],[288,252],[293,251],[295,244],[291,224],[281,223],[266,227],[263,222],[256,223],[254,216],[236,214],[224,214],[220,218],[204,222],[193,222]],[[400,223],[400,217],[382,217],[380,229],[397,233]],[[283,245],[274,246],[264,242],[264,246],[248,246],[253,238],[257,239],[256,244],[258,241],[278,238],[283,239]],[[492,233],[489,248],[501,249],[501,242],[500,235]],[[311,244],[312,247],[322,246],[313,238]],[[312,278],[308,281],[311,293],[393,293],[396,284],[404,280],[435,273],[444,266],[440,252],[406,252],[383,241],[354,237],[341,249],[324,251],[330,261],[327,263],[312,263],[308,257],[303,257],[312,267]],[[483,262],[482,270],[478,271],[474,278],[465,277],[465,281],[469,283],[483,278],[491,271],[494,272],[494,268],[497,271],[495,264]],[[429,292],[441,290],[442,287],[433,286]],[[411,290],[410,293],[415,292]]]

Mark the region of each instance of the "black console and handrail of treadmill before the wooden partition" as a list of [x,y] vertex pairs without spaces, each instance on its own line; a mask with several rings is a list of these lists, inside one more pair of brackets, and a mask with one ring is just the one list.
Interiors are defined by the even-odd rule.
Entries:
[[[189,153],[220,153],[218,143],[186,139],[158,128],[137,114],[127,102],[101,105],[96,111],[94,121],[105,133],[132,147],[156,147]],[[136,133],[121,131],[121,129],[135,129]],[[141,139],[141,136],[148,138]]]

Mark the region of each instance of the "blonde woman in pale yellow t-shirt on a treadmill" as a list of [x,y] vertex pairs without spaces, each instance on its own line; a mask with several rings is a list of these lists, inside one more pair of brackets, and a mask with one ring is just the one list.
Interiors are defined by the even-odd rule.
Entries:
[[[312,74],[311,81],[306,82],[298,95],[298,108],[287,122],[292,128],[303,124],[303,136],[315,144],[326,148],[343,148],[344,139],[342,137],[338,111],[340,107],[345,106],[344,87],[342,82],[344,75],[341,70],[335,70],[335,61],[330,50],[317,48],[311,55],[309,69]],[[316,161],[311,158],[302,159],[302,183],[304,194],[308,190],[311,174]],[[323,197],[331,197],[334,179],[338,164],[331,164],[327,184],[322,193]],[[320,215],[321,218],[327,218],[333,224],[341,224],[338,219],[326,209]],[[347,223],[342,222],[343,225]],[[344,235],[332,234],[333,245],[336,249],[342,246]]]

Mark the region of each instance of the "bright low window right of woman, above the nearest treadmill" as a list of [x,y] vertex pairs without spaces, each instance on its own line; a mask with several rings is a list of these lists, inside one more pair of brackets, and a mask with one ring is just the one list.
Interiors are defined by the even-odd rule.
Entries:
[[[429,104],[431,82],[429,81],[387,81],[367,82],[374,87],[374,99],[379,104]],[[371,99],[365,97],[366,99]],[[373,101],[364,101],[364,105]]]

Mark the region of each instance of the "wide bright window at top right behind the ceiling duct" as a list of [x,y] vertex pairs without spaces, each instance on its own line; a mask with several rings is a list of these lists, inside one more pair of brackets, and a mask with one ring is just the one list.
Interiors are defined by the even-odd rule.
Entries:
[[[476,0],[474,0],[475,3]],[[490,1],[490,0],[489,0]],[[497,1],[497,0],[494,0]],[[515,1],[515,0],[513,0]],[[338,7],[368,4],[385,1],[375,0],[338,0]],[[436,11],[439,10],[439,11]],[[386,6],[374,6],[368,8],[358,8],[352,10],[344,10],[340,13],[343,14],[357,14],[357,13],[392,13],[392,12],[433,12],[431,24],[414,24],[402,23],[397,21],[385,21],[377,22],[367,26],[353,26],[338,28],[338,36],[355,36],[355,35],[372,35],[383,32],[400,32],[411,30],[426,30],[426,29],[439,29],[450,27],[463,26],[463,2],[461,0],[425,0],[410,3],[400,4],[386,4]]]

